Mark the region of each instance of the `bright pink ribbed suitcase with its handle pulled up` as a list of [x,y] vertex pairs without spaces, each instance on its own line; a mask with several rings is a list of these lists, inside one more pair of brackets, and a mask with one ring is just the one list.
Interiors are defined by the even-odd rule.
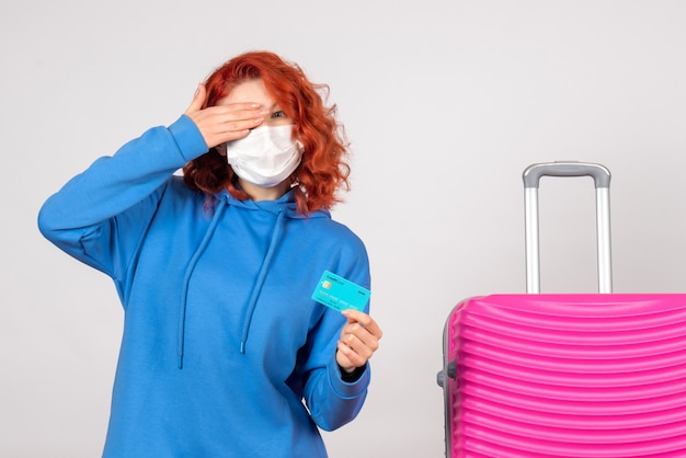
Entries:
[[[598,294],[539,294],[541,176],[594,179]],[[447,457],[686,457],[686,295],[609,294],[609,181],[524,171],[527,294],[461,301],[444,329]]]

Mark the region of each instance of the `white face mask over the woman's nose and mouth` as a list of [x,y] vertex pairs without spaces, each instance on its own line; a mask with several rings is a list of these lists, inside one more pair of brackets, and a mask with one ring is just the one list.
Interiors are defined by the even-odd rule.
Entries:
[[293,139],[293,125],[260,126],[226,144],[227,161],[238,176],[262,187],[276,186],[300,163],[302,145]]

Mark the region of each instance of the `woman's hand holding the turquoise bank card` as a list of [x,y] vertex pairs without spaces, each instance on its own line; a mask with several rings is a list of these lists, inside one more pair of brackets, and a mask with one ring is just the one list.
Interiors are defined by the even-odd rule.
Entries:
[[343,310],[341,313],[347,318],[347,323],[341,331],[335,359],[350,374],[367,364],[379,347],[384,332],[367,313],[354,309]]

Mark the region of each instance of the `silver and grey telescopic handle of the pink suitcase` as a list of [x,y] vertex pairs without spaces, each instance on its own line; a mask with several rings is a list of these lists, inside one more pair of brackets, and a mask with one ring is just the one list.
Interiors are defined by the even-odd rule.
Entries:
[[595,183],[598,291],[613,291],[609,224],[609,170],[586,162],[546,162],[527,167],[523,173],[525,193],[526,291],[540,293],[538,233],[538,186],[542,176],[591,176]]

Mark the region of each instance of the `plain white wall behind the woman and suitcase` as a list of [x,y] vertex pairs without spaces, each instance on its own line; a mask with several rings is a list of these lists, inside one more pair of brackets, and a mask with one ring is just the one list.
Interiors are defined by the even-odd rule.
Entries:
[[[122,309],[39,236],[41,204],[251,49],[329,83],[354,152],[334,217],[367,244],[385,337],[330,455],[443,456],[444,322],[524,291],[528,164],[607,165],[615,290],[686,290],[685,24],[683,0],[4,0],[0,456],[99,456],[108,414]],[[591,182],[540,201],[541,289],[595,290]]]

